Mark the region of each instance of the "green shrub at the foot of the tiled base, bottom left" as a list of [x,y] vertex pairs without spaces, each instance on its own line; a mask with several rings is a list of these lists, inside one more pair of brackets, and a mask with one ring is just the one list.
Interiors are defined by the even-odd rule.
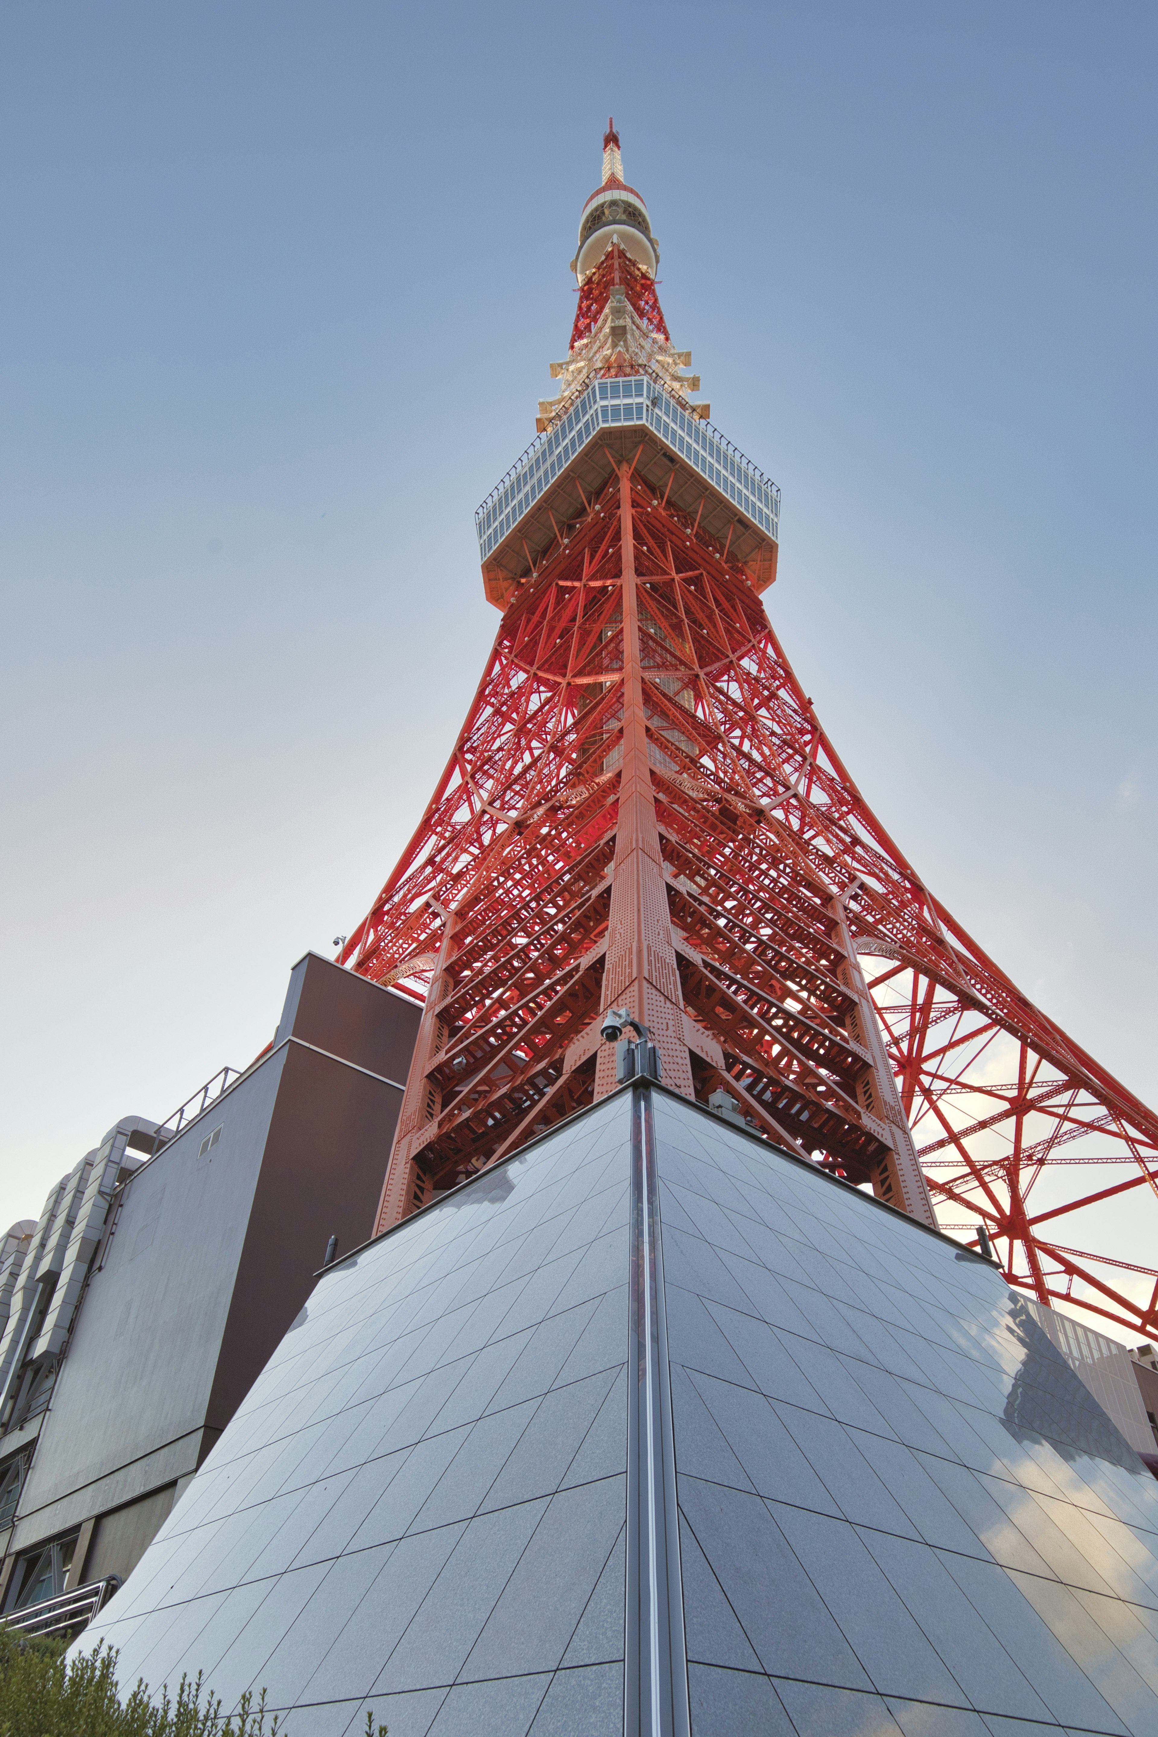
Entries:
[[[205,1702],[201,1697],[205,1695]],[[116,1654],[95,1652],[68,1661],[64,1641],[24,1640],[0,1628],[0,1737],[290,1737],[278,1714],[266,1721],[266,1690],[255,1702],[241,1695],[238,1711],[222,1718],[220,1701],[181,1678],[177,1699],[168,1688],[156,1701],[144,1681],[122,1701]],[[366,1714],[366,1737],[385,1737]]]

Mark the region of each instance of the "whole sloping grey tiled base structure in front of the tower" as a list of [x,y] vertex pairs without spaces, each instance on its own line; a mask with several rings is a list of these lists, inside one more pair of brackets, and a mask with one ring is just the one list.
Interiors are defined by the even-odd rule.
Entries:
[[635,1082],[321,1275],[99,1640],[304,1737],[1120,1737],[1158,1487],[993,1265]]

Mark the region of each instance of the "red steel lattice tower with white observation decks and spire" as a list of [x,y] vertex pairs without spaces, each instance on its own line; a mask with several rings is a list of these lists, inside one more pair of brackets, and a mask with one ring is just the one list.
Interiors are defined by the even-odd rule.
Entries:
[[340,954],[424,1001],[377,1228],[611,1091],[627,1007],[675,1091],[1155,1334],[1158,1271],[1099,1211],[1155,1212],[1158,1117],[925,888],[825,735],[760,603],[780,492],[693,403],[615,125],[578,240],[559,396],[477,512],[498,634]]

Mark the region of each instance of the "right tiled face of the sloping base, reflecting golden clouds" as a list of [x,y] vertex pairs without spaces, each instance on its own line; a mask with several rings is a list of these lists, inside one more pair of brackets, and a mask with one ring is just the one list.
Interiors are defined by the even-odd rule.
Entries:
[[668,1094],[656,1146],[694,1737],[1158,1732],[1158,1483],[1024,1301]]

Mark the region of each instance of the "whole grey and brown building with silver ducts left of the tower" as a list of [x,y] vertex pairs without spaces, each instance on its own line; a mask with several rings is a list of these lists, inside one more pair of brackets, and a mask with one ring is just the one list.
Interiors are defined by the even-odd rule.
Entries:
[[365,1240],[420,1009],[316,954],[269,1047],[123,1117],[0,1254],[0,1608],[123,1581]]

